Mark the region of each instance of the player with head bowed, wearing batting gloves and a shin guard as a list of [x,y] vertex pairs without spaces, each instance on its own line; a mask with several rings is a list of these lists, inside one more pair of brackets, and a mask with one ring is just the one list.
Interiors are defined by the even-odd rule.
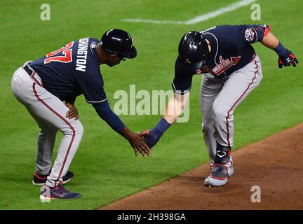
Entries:
[[[202,130],[212,171],[206,186],[223,186],[234,173],[234,111],[260,84],[262,67],[252,47],[260,41],[278,54],[278,67],[296,66],[298,60],[271,33],[269,25],[220,25],[204,31],[189,31],[179,44],[175,62],[175,97],[166,115],[144,137],[152,148],[182,113],[189,98],[194,74],[203,73],[201,83]],[[168,111],[174,111],[169,114]]]

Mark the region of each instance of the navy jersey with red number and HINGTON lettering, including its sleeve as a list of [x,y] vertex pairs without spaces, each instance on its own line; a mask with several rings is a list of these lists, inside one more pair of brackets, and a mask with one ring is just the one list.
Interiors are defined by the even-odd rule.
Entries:
[[29,66],[36,71],[43,87],[61,100],[84,94],[88,103],[107,99],[103,89],[95,38],[81,38],[48,53]]

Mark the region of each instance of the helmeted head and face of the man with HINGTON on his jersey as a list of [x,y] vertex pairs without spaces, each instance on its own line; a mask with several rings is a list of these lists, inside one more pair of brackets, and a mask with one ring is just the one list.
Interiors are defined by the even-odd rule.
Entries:
[[128,32],[121,29],[110,29],[103,34],[96,50],[99,55],[100,64],[115,66],[121,60],[134,58],[137,56],[137,50],[133,45],[133,38]]

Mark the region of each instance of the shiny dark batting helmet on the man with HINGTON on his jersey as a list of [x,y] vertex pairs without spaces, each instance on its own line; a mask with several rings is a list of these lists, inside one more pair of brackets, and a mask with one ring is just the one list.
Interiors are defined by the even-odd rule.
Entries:
[[133,45],[133,38],[122,29],[110,29],[106,31],[100,40],[100,44],[104,50],[117,53],[126,58],[137,56],[137,50]]

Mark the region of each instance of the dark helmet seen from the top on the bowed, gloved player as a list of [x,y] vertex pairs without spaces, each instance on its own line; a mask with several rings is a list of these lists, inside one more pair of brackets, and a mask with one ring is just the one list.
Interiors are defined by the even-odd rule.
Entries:
[[179,43],[179,57],[183,62],[205,62],[208,55],[206,39],[198,31],[189,31],[182,36]]

